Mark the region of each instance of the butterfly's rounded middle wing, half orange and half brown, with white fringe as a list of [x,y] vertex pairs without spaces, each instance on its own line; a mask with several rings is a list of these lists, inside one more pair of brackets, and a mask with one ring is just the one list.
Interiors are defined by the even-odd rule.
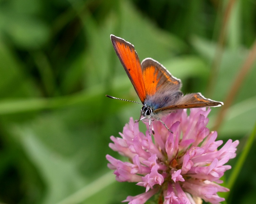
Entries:
[[156,92],[162,94],[170,90],[180,90],[181,80],[173,77],[159,62],[146,58],[142,61],[141,67],[146,96],[153,96]]

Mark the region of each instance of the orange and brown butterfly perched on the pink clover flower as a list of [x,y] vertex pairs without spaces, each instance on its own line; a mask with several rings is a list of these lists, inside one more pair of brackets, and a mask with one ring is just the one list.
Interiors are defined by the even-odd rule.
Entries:
[[[161,117],[175,109],[223,105],[222,102],[205,98],[201,93],[183,96],[180,90],[181,80],[173,77],[163,65],[152,58],[145,58],[140,63],[139,56],[132,44],[114,35],[110,35],[110,38],[115,52],[141,101],[141,103],[135,102],[142,105],[139,121],[147,120],[153,134],[152,120],[154,119],[159,120],[173,133],[161,120]],[[112,99],[130,101],[106,96]]]

